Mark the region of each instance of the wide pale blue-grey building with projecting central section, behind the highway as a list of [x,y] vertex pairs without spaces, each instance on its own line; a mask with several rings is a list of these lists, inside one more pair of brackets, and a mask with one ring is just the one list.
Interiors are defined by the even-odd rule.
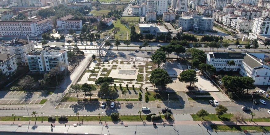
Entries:
[[182,30],[212,30],[214,18],[203,17],[203,15],[192,15],[190,17],[179,17],[178,27]]

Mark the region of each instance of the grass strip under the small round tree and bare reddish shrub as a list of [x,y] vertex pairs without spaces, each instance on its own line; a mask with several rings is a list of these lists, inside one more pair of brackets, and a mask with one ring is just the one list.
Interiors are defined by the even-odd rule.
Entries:
[[233,114],[223,114],[218,118],[217,114],[209,114],[208,116],[204,116],[203,119],[196,114],[191,114],[194,121],[230,121],[233,117]]

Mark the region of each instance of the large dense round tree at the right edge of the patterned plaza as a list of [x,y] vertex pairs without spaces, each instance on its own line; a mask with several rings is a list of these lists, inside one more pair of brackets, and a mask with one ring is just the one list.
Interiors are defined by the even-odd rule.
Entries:
[[167,84],[172,83],[172,79],[168,75],[167,71],[161,68],[156,68],[151,71],[150,81],[156,86],[165,88]]

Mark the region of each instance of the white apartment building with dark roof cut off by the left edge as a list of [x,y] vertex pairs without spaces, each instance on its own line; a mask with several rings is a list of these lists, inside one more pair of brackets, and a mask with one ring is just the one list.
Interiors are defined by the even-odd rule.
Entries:
[[13,75],[17,71],[16,54],[0,54],[0,69],[7,76]]

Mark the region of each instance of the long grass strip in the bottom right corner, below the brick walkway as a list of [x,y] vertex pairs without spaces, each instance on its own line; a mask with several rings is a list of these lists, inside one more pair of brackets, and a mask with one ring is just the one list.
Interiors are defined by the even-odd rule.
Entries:
[[237,126],[237,125],[211,125],[211,128],[216,131],[221,132],[239,132],[243,130],[248,130],[248,132],[269,132],[270,127],[263,126]]

